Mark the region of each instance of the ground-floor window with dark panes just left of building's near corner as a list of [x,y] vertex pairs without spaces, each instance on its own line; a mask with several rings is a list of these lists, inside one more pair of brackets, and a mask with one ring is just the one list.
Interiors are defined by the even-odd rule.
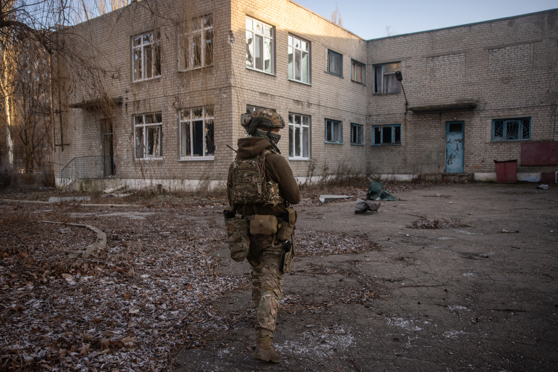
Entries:
[[213,106],[180,110],[180,160],[213,160]]

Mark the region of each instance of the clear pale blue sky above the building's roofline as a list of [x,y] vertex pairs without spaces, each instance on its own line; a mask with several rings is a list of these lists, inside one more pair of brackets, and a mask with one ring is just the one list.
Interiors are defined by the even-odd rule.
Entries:
[[558,0],[295,0],[331,18],[339,6],[343,27],[365,39],[384,37],[386,26],[398,34],[433,30],[558,8]]

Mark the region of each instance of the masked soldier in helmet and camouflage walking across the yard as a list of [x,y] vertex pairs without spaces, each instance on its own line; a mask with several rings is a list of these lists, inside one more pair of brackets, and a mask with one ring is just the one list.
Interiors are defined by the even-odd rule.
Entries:
[[[280,155],[281,152],[277,148],[277,142],[281,138],[279,132],[285,128],[285,122],[281,115],[266,109],[255,110],[249,116],[245,115],[243,115],[244,123],[242,125],[252,137],[238,139],[237,157],[229,168],[229,204],[235,209],[237,216],[242,215],[243,219],[249,219],[253,215],[258,215],[259,218],[285,216],[284,211],[289,204],[300,202],[299,186],[287,161]],[[264,180],[256,187],[261,190],[264,184],[275,186],[268,186],[268,190],[273,190],[273,192],[268,193],[267,200],[254,204],[242,204],[238,202],[240,200],[238,196],[235,197],[235,190],[246,189],[249,186],[247,186],[247,179],[241,180],[238,172],[235,172],[235,163],[238,166],[240,161],[252,158],[264,160],[259,164],[260,170],[264,168]],[[267,195],[265,192],[263,194]],[[264,199],[266,198],[264,197]],[[274,220],[275,218],[271,217]],[[283,222],[283,225],[285,223]],[[292,226],[294,227],[294,221],[292,221]],[[288,239],[286,236],[282,237]],[[292,240],[292,235],[289,237]],[[282,241],[276,241],[278,233],[265,235],[253,234],[252,231],[248,234],[248,238],[247,260],[252,266],[252,303],[256,310],[256,350],[253,357],[279,363],[281,352],[273,349],[271,341],[283,291],[283,267],[281,267],[280,258],[286,248],[281,244]]]

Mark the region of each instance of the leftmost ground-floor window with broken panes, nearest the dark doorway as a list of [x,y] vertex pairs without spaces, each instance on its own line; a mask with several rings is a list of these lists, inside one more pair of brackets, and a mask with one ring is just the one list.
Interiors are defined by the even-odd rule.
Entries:
[[137,160],[163,157],[163,125],[161,113],[134,116],[134,148]]

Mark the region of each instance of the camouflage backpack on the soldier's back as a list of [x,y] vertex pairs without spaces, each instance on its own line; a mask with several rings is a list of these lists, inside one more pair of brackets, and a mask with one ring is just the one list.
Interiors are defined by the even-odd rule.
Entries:
[[234,205],[263,204],[276,206],[284,202],[279,185],[273,181],[266,182],[266,156],[277,153],[265,149],[253,158],[235,158],[233,163],[233,180],[230,197]]

